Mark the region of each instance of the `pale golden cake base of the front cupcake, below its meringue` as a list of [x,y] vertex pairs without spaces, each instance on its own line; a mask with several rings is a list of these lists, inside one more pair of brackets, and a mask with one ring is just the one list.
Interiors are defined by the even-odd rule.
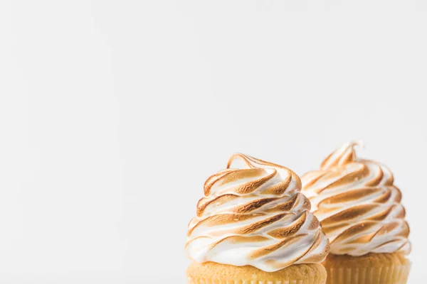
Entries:
[[320,263],[294,264],[265,272],[253,266],[194,262],[186,273],[189,284],[325,284],[327,276]]

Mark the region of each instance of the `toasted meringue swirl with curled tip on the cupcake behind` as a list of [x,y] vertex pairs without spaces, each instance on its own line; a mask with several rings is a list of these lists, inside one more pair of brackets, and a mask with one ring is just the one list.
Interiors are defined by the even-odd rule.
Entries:
[[347,143],[331,153],[321,170],[302,176],[302,192],[329,237],[331,253],[409,253],[409,226],[401,192],[389,168],[357,158]]

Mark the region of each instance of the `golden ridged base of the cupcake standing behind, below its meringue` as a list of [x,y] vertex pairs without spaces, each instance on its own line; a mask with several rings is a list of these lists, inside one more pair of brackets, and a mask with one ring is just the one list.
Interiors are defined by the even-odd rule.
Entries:
[[330,254],[323,264],[327,284],[405,284],[411,268],[401,253]]

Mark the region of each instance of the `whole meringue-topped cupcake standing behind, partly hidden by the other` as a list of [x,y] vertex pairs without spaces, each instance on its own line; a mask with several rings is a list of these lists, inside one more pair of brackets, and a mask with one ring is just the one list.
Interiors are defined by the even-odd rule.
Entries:
[[356,145],[302,176],[302,193],[330,239],[327,283],[406,283],[411,243],[401,192],[389,168],[357,158]]

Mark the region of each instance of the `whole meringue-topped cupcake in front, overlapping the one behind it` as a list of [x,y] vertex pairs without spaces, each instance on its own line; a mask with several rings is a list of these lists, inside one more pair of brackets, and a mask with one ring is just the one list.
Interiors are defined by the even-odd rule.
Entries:
[[190,284],[325,283],[329,241],[288,168],[235,154],[189,223]]

